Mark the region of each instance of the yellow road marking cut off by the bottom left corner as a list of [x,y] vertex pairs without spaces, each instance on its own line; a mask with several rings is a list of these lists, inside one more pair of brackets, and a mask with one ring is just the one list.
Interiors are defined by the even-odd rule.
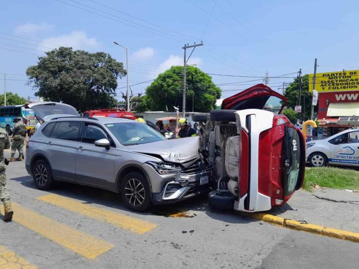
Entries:
[[0,245],[0,269],[37,269],[14,251]]

